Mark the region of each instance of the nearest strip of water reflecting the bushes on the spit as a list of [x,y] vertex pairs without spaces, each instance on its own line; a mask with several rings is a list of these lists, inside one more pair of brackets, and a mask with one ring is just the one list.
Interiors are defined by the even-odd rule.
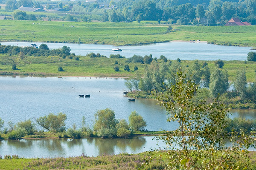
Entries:
[[143,136],[131,139],[21,139],[20,142],[0,140],[0,155],[41,158],[140,153],[157,147],[157,142],[152,139],[152,136]]

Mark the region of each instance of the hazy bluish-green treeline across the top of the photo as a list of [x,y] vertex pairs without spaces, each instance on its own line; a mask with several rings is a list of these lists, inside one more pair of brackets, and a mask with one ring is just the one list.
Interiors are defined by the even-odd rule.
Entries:
[[[3,0],[1,0],[3,1]],[[106,4],[107,3],[107,4]],[[66,15],[13,13],[15,20],[67,20],[102,22],[131,22],[142,20],[165,21],[182,25],[224,25],[232,17],[256,24],[256,0],[111,0],[107,2],[81,3],[61,2],[50,5],[32,0],[7,0],[6,9],[15,10],[20,6],[47,9],[63,8]]]

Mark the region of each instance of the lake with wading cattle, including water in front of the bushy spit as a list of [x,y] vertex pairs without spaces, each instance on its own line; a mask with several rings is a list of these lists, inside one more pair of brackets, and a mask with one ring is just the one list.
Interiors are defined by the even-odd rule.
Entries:
[[[0,117],[7,122],[20,122],[45,116],[48,113],[65,113],[66,127],[74,123],[79,128],[82,116],[92,127],[94,113],[110,108],[116,119],[125,119],[137,111],[147,122],[147,130],[175,130],[177,123],[166,121],[166,112],[157,101],[136,99],[129,102],[123,96],[127,90],[125,79],[90,77],[0,77]],[[90,94],[90,98],[79,98]],[[255,110],[233,110],[231,117],[255,119]],[[38,127],[40,128],[40,127]],[[17,154],[22,157],[98,156],[102,154],[139,153],[157,147],[153,137],[133,139],[40,139],[20,142],[0,141],[0,155]],[[163,145],[163,144],[162,144]]]

